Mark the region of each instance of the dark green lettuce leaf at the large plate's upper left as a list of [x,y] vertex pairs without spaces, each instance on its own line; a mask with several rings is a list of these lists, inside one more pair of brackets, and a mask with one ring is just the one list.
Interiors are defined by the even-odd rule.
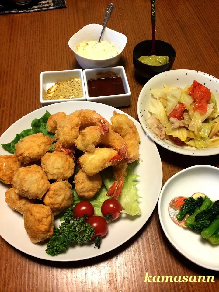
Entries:
[[[50,136],[51,138],[54,137],[54,134],[50,133],[46,129],[46,123],[48,118],[51,116],[51,114],[46,110],[46,113],[40,118],[40,119],[34,119],[31,123],[31,129],[23,130],[20,134],[15,134],[15,138],[10,142],[6,144],[1,144],[2,147],[9,151],[10,153],[15,153],[15,144],[17,142],[29,135],[36,134],[36,133],[43,133],[46,136]],[[52,146],[51,146],[52,149]]]

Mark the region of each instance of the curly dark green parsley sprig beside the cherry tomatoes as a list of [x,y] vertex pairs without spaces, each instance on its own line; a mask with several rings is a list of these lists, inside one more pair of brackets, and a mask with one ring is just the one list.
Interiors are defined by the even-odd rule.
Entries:
[[48,255],[59,255],[67,249],[68,243],[83,243],[91,240],[94,228],[89,223],[85,223],[85,218],[75,219],[74,217],[72,207],[70,207],[64,214],[64,222],[54,229],[54,235],[47,243]]

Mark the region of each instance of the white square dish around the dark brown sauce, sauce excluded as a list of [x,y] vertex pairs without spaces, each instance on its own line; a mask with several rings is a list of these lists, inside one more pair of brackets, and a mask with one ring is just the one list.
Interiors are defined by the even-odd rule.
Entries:
[[[83,71],[84,82],[85,82],[85,92],[88,101],[94,101],[97,103],[105,103],[108,106],[129,106],[131,99],[131,91],[128,85],[128,80],[126,77],[125,69],[123,66],[108,67],[108,68],[96,68],[96,69],[86,69]],[[88,80],[99,79],[106,77],[120,76],[123,81],[125,93],[117,95],[108,96],[97,96],[89,97]]]

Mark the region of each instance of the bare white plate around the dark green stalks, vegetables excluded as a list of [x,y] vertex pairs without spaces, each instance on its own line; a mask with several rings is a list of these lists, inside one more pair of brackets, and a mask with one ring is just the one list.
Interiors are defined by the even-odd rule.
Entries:
[[187,198],[194,193],[204,193],[212,201],[216,201],[219,200],[218,189],[217,167],[192,166],[176,173],[165,183],[158,202],[161,226],[169,242],[190,261],[216,271],[219,271],[219,245],[212,245],[190,228],[178,226],[174,221],[179,211],[174,210],[177,207],[170,203],[180,196]]

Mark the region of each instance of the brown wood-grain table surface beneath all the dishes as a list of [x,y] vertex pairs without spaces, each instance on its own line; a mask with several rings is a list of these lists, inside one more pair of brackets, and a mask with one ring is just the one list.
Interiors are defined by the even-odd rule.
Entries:
[[[109,1],[67,0],[67,9],[0,16],[0,134],[40,108],[40,72],[79,68],[69,38],[89,23],[103,23]],[[176,49],[172,69],[218,73],[218,0],[157,0],[156,38]],[[136,81],[134,46],[151,38],[149,0],[115,0],[108,26],[127,36],[120,62],[132,92],[124,112],[137,118],[137,99],[144,83]],[[196,164],[218,165],[218,156],[192,158],[158,147],[163,183]],[[4,194],[1,194],[2,196]],[[5,218],[5,222],[6,222]],[[1,224],[6,224],[1,222]],[[214,283],[144,283],[149,275],[214,275]],[[103,256],[81,262],[48,262],[33,258],[0,238],[1,292],[218,291],[218,273],[181,256],[168,242],[155,208],[150,220],[128,242]]]

